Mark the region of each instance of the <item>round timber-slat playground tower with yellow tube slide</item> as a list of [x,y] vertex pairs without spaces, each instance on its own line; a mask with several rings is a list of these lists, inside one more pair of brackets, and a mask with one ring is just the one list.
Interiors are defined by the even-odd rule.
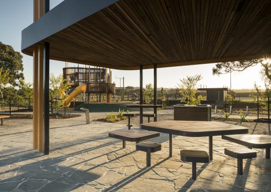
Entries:
[[70,88],[67,90],[63,105],[69,106],[75,100],[85,102],[112,102],[115,94],[115,83],[111,83],[112,72],[100,67],[66,67],[63,68],[63,77]]

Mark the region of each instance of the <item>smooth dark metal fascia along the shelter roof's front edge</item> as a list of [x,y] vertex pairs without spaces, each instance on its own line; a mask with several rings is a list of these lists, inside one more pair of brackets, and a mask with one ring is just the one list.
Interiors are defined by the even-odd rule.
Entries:
[[[46,1],[46,0],[45,0]],[[118,0],[64,0],[21,31],[21,50],[108,7]],[[46,3],[44,3],[46,5]]]

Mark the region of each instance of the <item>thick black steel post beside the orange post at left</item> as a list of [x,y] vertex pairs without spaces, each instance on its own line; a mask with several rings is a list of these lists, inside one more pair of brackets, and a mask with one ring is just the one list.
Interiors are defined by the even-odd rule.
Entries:
[[43,47],[43,154],[49,154],[49,43]]

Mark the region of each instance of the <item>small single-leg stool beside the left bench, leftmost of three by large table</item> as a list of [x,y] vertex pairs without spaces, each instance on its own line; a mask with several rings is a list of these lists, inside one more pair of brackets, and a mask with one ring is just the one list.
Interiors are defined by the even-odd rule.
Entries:
[[161,144],[151,141],[143,141],[136,144],[136,150],[146,152],[146,166],[150,167],[150,154],[160,151]]

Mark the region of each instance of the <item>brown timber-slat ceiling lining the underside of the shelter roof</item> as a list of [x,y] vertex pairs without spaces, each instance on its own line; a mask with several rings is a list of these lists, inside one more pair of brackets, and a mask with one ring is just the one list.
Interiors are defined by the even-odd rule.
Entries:
[[51,58],[116,69],[263,58],[271,0],[120,0],[44,41]]

